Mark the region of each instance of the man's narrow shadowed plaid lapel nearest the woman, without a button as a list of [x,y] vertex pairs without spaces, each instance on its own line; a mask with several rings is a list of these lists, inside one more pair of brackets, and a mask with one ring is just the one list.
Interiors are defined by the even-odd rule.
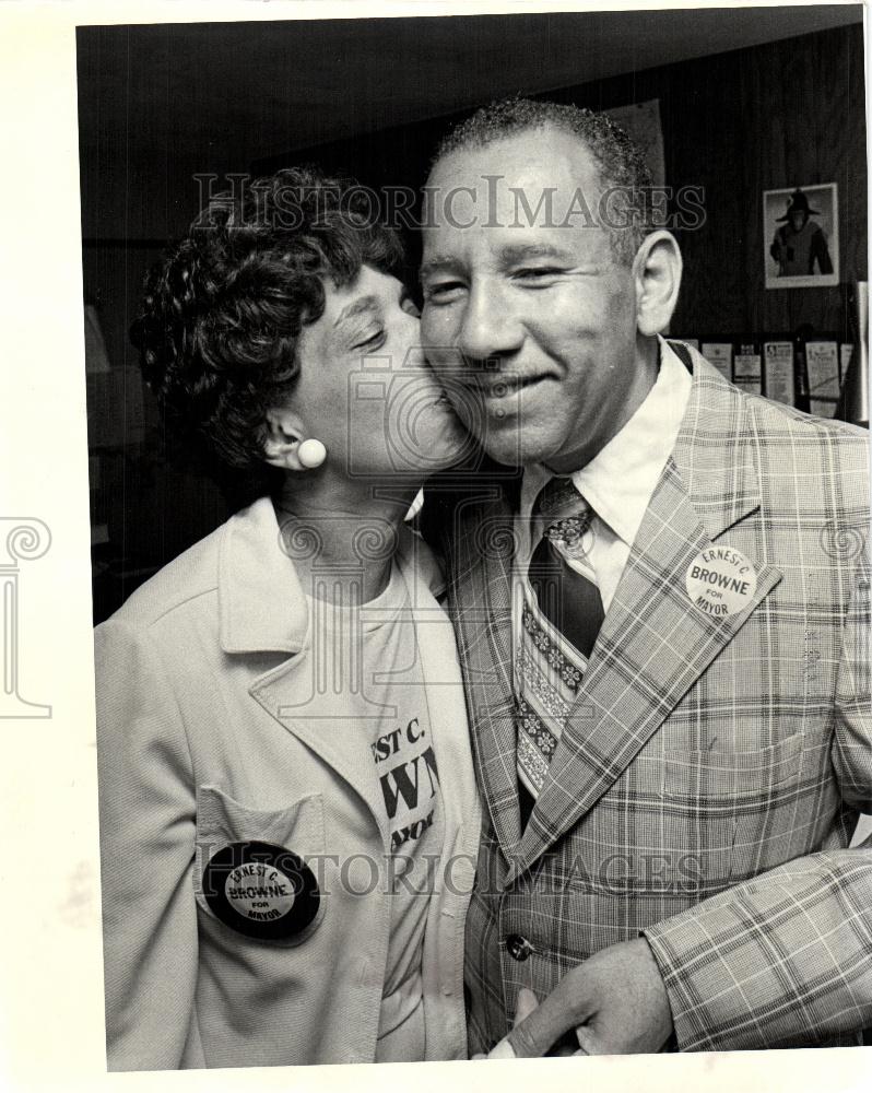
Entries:
[[504,853],[520,837],[511,685],[514,506],[498,485],[462,497],[447,537],[448,603],[468,694],[475,769]]

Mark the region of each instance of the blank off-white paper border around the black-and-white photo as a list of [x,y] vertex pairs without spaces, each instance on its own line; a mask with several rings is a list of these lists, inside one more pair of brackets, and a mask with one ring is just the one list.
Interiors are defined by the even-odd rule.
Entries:
[[[818,0],[820,2],[820,0]],[[20,696],[50,709],[2,722],[4,822],[0,1077],[11,1090],[130,1093],[354,1090],[500,1093],[579,1089],[803,1093],[868,1088],[872,1048],[644,1057],[107,1072],[91,626],[85,359],[76,119],[76,25],[514,14],[612,2],[76,0],[0,5],[0,514],[36,522],[21,564]],[[738,0],[633,8],[749,7]],[[820,283],[815,280],[815,284]],[[46,550],[37,556],[42,545]],[[26,882],[26,890],[25,890]],[[490,1077],[485,1077],[490,1073]]]

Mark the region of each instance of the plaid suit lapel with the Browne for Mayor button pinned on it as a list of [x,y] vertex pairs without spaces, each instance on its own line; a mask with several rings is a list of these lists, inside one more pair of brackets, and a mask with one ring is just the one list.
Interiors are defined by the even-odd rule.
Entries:
[[756,564],[754,597],[723,619],[705,614],[687,595],[696,555],[759,506],[742,396],[705,362],[697,369],[673,458],[639,528],[511,877],[606,792],[781,579],[778,569]]

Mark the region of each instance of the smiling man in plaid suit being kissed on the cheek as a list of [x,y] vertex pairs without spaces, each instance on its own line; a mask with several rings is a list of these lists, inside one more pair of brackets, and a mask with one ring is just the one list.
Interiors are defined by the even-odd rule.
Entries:
[[660,337],[681,256],[649,185],[608,119],[525,101],[456,130],[428,183],[423,337],[493,459],[428,503],[486,803],[471,1046],[857,1044],[867,434]]

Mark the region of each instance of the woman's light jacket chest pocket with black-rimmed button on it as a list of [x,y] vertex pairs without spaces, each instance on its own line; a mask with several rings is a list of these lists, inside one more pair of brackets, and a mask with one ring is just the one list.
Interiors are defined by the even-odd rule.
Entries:
[[[214,897],[215,892],[226,892],[228,888],[233,896],[235,891],[241,892],[244,886],[246,892],[254,893],[256,902],[241,898],[241,902],[236,901],[236,906],[244,908],[251,920],[257,921],[257,885],[264,889],[264,915],[290,915],[294,898],[299,898],[299,889],[296,890],[296,897],[287,893],[294,891],[301,877],[305,877],[309,900],[313,898],[313,882],[316,890],[317,912],[314,917],[288,937],[270,936],[264,929],[264,936],[258,940],[269,944],[296,945],[318,928],[326,910],[323,894],[318,890],[318,859],[325,850],[323,800],[320,794],[311,794],[284,809],[264,810],[241,804],[215,786],[200,786],[197,790],[196,838],[195,895],[201,914],[207,915],[210,920],[235,932],[233,926],[228,925],[228,919],[233,920],[233,916],[226,912],[223,915],[221,912],[216,913],[214,898],[208,896]],[[261,865],[264,851],[250,844],[267,844],[284,851],[275,858],[278,874],[271,866],[273,872],[258,875],[266,868]],[[221,860],[229,847],[237,848],[237,860],[244,862],[240,867],[243,870],[251,867],[256,870],[243,883],[237,883],[235,889],[229,874],[234,871],[228,872],[226,868],[216,871],[211,865]],[[285,870],[284,873],[281,872],[282,869]],[[291,884],[287,883],[288,879]]]

